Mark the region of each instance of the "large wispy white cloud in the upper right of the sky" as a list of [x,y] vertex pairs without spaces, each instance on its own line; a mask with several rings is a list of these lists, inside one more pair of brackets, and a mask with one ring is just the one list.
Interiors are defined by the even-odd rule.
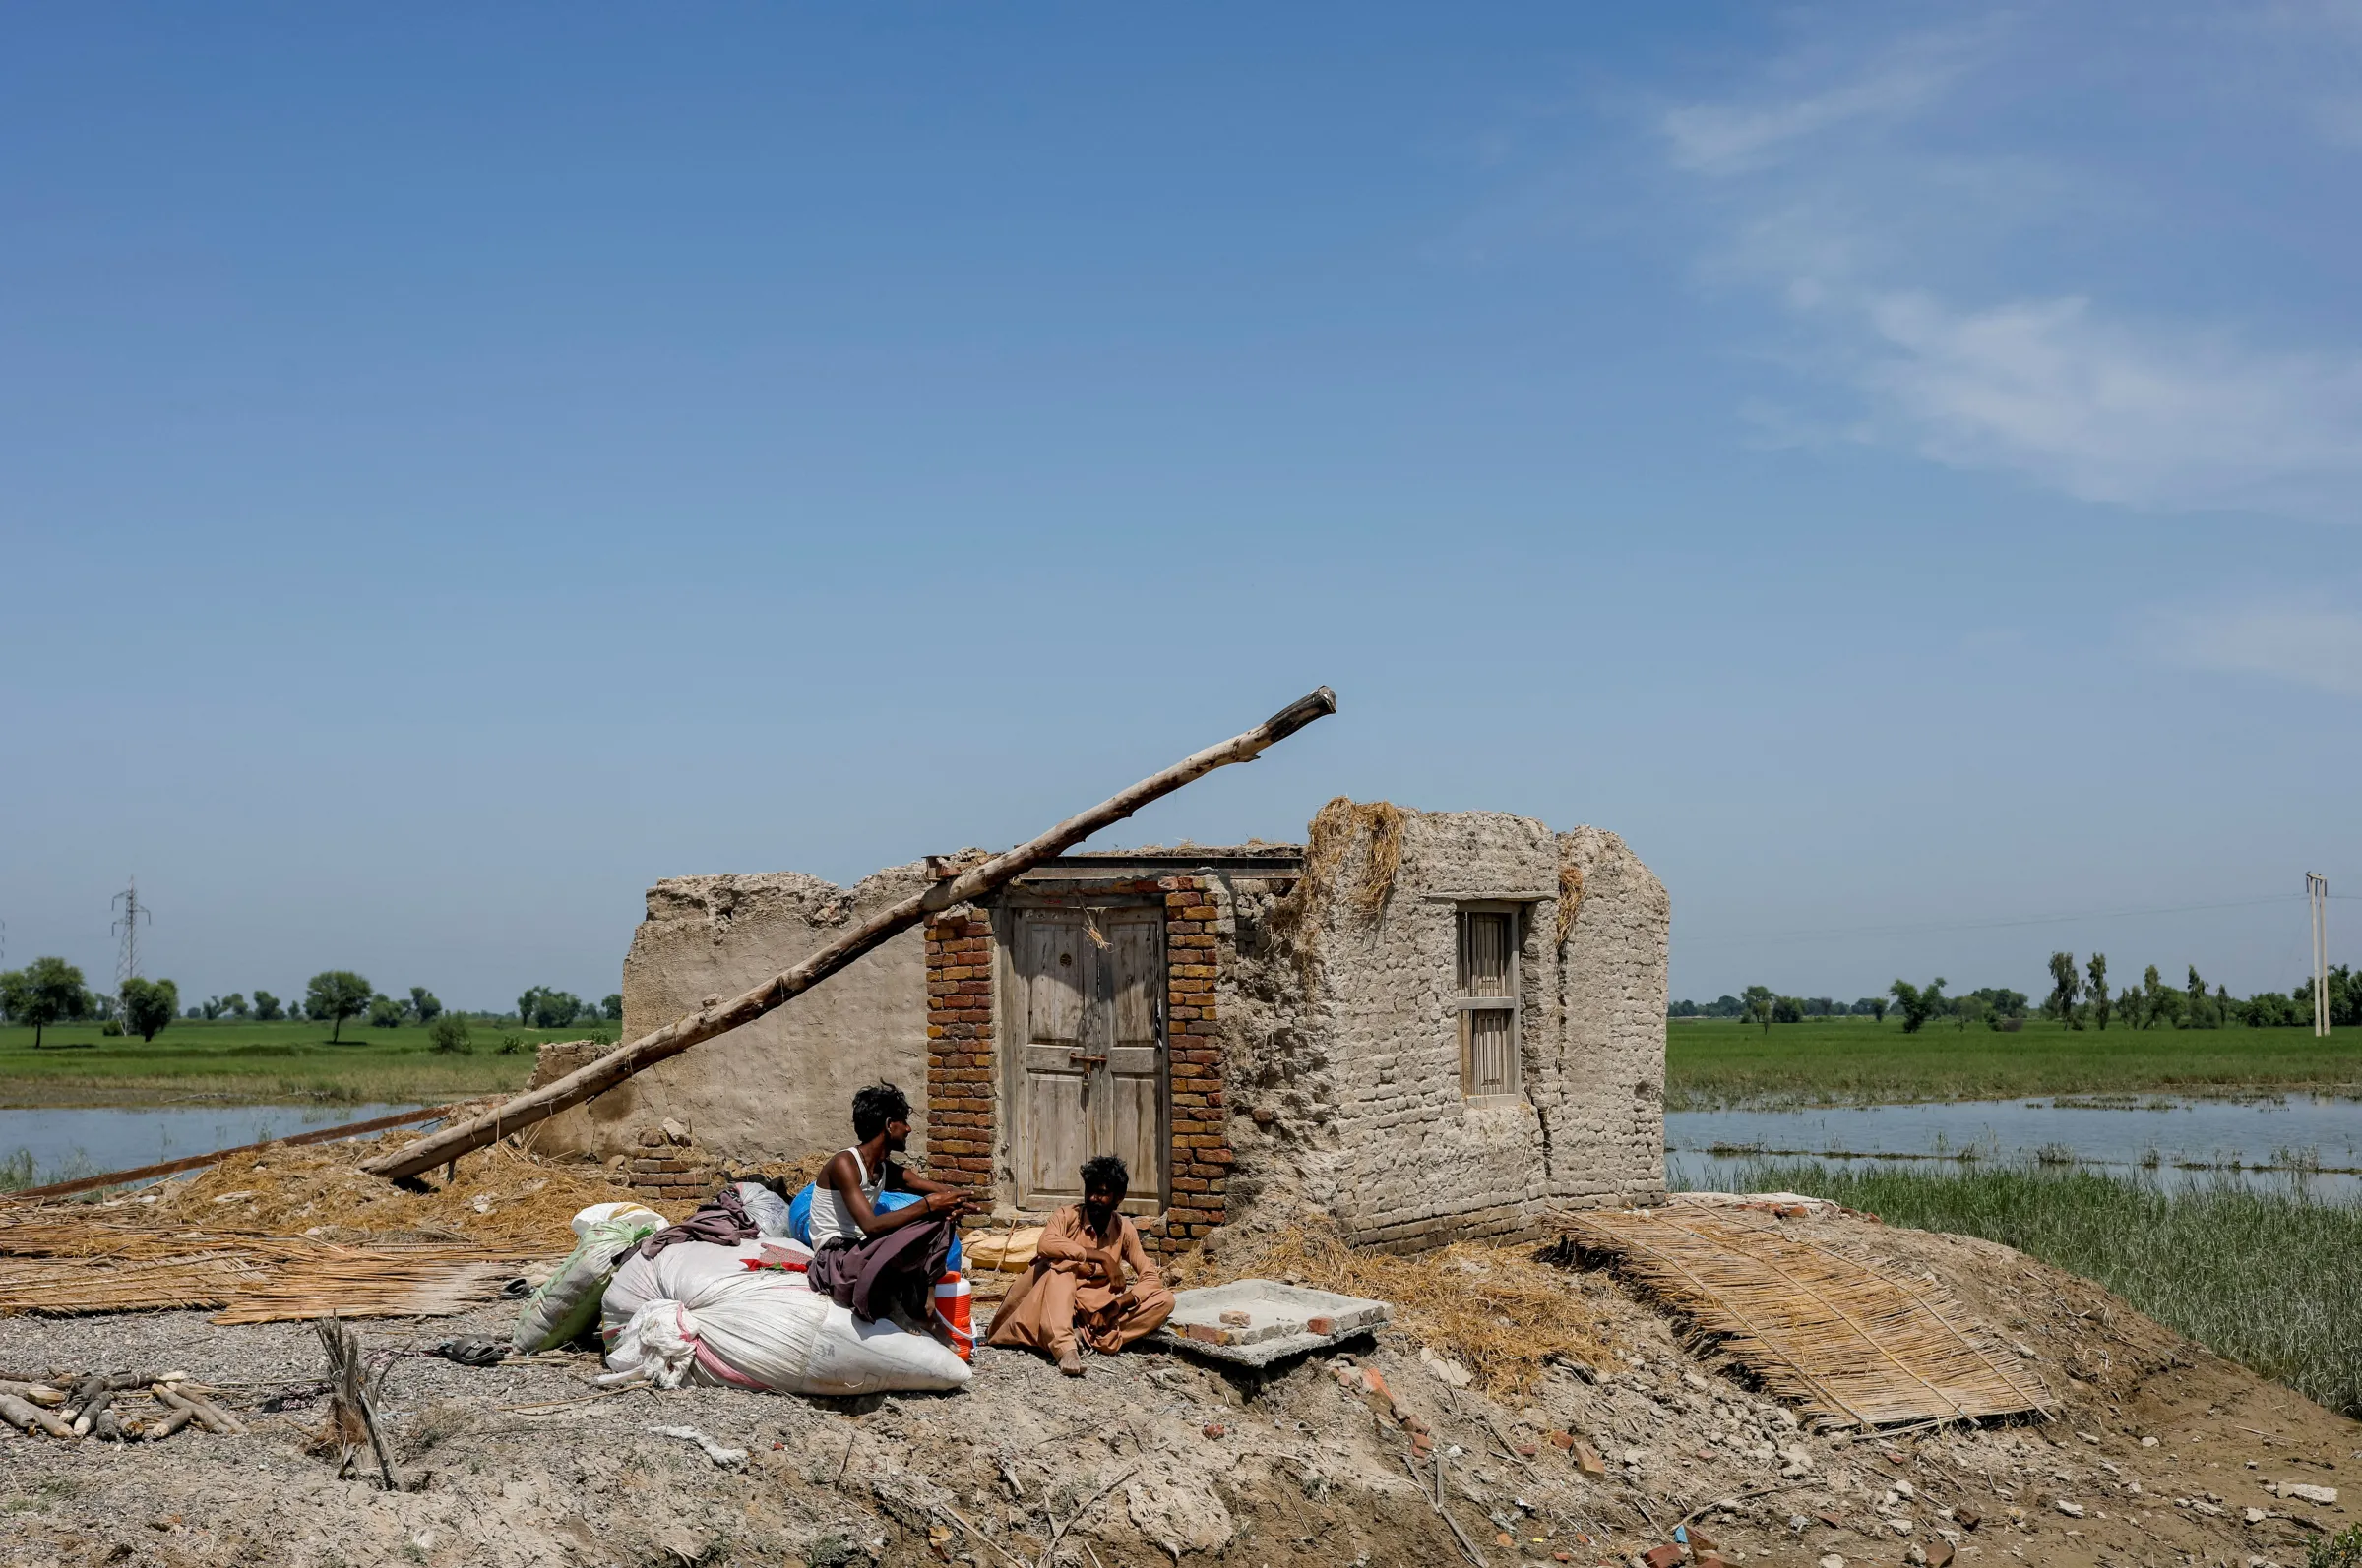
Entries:
[[[2015,102],[2027,61],[2003,61],[2001,43],[1998,24],[1906,38],[1786,97],[1660,116],[1670,163],[1708,179],[1705,274],[1767,288],[1807,328],[1795,361],[1859,394],[1861,418],[1835,420],[1854,439],[2083,501],[2362,522],[2362,354],[2256,347],[2081,290],[2029,293],[2024,276],[1972,298],[2012,236],[2105,234],[2095,213],[2119,198],[2005,151],[1975,104],[1949,116],[1946,146],[1925,135],[1932,109],[1972,90]],[[2012,68],[1979,73],[1991,61]],[[1767,80],[1807,73],[1779,61]]]

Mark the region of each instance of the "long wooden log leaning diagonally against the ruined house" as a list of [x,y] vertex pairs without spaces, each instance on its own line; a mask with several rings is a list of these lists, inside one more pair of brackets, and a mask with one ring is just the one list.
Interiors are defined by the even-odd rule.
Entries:
[[815,952],[803,963],[772,975],[763,985],[744,992],[730,1001],[713,1004],[687,1018],[676,1018],[673,1023],[642,1034],[640,1039],[616,1046],[595,1063],[569,1072],[562,1079],[543,1084],[541,1089],[529,1089],[505,1105],[489,1110],[479,1117],[461,1122],[458,1126],[446,1126],[439,1133],[420,1138],[406,1148],[387,1150],[376,1159],[364,1159],[361,1169],[371,1176],[387,1176],[399,1181],[402,1176],[418,1176],[437,1164],[456,1159],[468,1150],[496,1143],[508,1133],[522,1131],[536,1122],[555,1117],[569,1105],[581,1105],[583,1100],[600,1096],[633,1072],[654,1067],[661,1060],[680,1056],[690,1046],[713,1039],[716,1034],[727,1034],[742,1025],[753,1023],[775,1006],[801,997],[813,989],[836,971],[846,968],[862,954],[876,949],[888,937],[909,930],[928,914],[950,909],[952,904],[973,902],[1004,883],[1016,881],[1025,871],[1035,869],[1051,855],[1063,855],[1091,834],[1115,822],[1122,822],[1131,812],[1141,810],[1150,801],[1169,796],[1172,791],[1202,779],[1216,767],[1231,763],[1252,763],[1266,746],[1287,739],[1316,718],[1325,718],[1337,711],[1337,694],[1327,687],[1316,690],[1309,697],[1292,701],[1280,708],[1254,730],[1235,734],[1219,746],[1207,746],[1193,756],[1181,758],[1172,767],[1148,779],[1141,779],[1131,789],[1108,796],[1079,817],[1068,817],[1051,831],[1042,834],[1030,843],[994,855],[978,867],[971,867],[957,876],[938,881],[933,888],[916,893],[898,904],[879,909],[867,921],[853,926],[846,935],[836,937],[820,952]]

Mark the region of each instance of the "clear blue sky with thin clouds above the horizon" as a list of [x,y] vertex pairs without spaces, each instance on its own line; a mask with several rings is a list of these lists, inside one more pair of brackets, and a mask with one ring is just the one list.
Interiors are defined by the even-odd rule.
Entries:
[[191,994],[605,994],[659,876],[1011,843],[1330,682],[1115,841],[1597,822],[1675,994],[2289,985],[2362,893],[2357,66],[2353,5],[14,12],[7,961],[111,975],[137,874]]

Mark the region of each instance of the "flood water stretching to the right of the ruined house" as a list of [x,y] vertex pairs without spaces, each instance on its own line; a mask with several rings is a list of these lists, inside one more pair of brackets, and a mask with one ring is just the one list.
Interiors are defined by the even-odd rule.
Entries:
[[[2161,1185],[2296,1183],[2362,1202],[2362,1100],[2315,1093],[2201,1100],[2057,1096],[1937,1105],[1665,1112],[1665,1176],[1722,1188],[1764,1157],[1840,1157],[1930,1169],[1963,1150],[1998,1164],[2088,1164]],[[2258,1169],[2268,1167],[2268,1169]],[[1958,1167],[1932,1167],[1958,1169]]]

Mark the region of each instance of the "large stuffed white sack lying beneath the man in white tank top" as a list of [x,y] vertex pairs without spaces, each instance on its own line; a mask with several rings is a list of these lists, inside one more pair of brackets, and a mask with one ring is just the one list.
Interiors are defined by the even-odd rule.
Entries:
[[[694,1242],[690,1242],[694,1244]],[[661,1263],[678,1247],[652,1261]],[[716,1249],[723,1252],[723,1249]],[[931,1334],[860,1322],[803,1275],[713,1273],[690,1299],[657,1296],[609,1332],[607,1365],[661,1389],[713,1384],[782,1393],[961,1389],[968,1363]]]

